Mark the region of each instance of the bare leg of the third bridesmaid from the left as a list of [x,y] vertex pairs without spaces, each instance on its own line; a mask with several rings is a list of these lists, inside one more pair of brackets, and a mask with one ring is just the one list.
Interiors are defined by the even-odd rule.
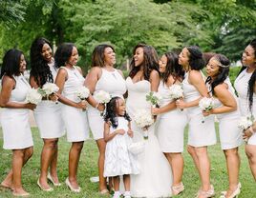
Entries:
[[69,153],[69,181],[75,189],[79,188],[76,175],[82,148],[83,142],[73,142]]

